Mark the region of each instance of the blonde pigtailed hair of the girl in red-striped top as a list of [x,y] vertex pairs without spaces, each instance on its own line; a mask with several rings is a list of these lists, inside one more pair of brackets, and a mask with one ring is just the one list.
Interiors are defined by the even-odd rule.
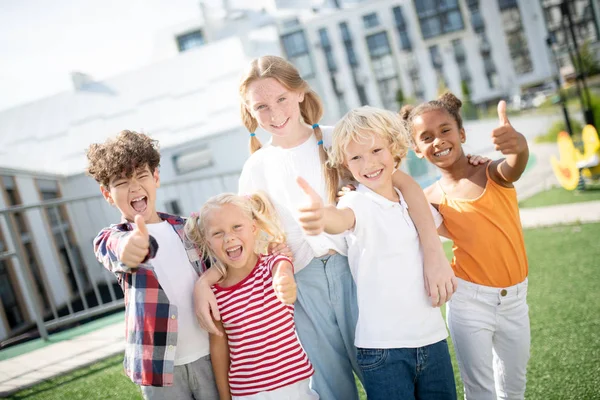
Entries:
[[240,208],[250,220],[256,223],[259,235],[255,248],[252,249],[255,253],[265,254],[269,244],[285,242],[285,234],[281,229],[277,212],[264,193],[257,192],[246,196],[223,193],[211,197],[197,214],[194,213],[188,218],[184,231],[186,236],[199,247],[202,254],[209,257],[212,267],[216,268],[223,278],[227,276],[227,266],[216,257],[209,246],[207,218],[211,211],[225,204]]

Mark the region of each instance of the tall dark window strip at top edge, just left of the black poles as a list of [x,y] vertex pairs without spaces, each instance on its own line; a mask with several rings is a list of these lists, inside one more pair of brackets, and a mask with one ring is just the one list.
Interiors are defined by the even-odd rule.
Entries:
[[510,1],[500,2],[500,8],[502,9],[502,26],[504,33],[506,34],[506,41],[510,52],[510,58],[513,63],[513,67],[517,75],[526,74],[533,71],[533,63],[531,61],[531,54],[529,53],[529,46],[527,44],[527,37],[523,29],[521,21],[521,13],[519,8],[512,4]]

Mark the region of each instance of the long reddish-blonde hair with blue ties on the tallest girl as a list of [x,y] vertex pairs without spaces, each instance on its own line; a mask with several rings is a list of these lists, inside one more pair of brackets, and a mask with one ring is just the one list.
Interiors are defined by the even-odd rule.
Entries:
[[[248,129],[248,132],[255,133],[258,128],[258,121],[250,113],[247,104],[246,95],[248,87],[252,82],[260,79],[273,78],[277,80],[287,90],[304,93],[304,100],[300,103],[300,115],[305,123],[312,125],[315,132],[315,138],[319,143],[319,157],[323,167],[325,183],[329,186],[339,185],[339,176],[335,170],[327,166],[327,152],[323,147],[323,132],[316,125],[323,117],[323,104],[317,93],[312,90],[300,73],[290,62],[277,56],[263,56],[252,60],[248,70],[242,76],[240,82],[240,114],[242,123]],[[250,153],[260,150],[262,145],[258,137],[250,136]],[[335,202],[335,196],[329,198],[331,203]]]

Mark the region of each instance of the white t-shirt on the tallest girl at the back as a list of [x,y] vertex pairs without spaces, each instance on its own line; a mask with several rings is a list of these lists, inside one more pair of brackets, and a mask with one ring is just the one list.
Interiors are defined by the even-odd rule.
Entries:
[[[331,145],[332,127],[321,127],[323,143]],[[283,149],[268,144],[248,158],[239,182],[239,193],[250,194],[258,190],[268,196],[283,225],[287,245],[294,254],[294,270],[300,271],[310,261],[329,250],[346,255],[344,235],[307,236],[298,223],[298,208],[308,199],[296,183],[303,177],[326,200],[326,187],[317,139],[311,135],[299,146]]]

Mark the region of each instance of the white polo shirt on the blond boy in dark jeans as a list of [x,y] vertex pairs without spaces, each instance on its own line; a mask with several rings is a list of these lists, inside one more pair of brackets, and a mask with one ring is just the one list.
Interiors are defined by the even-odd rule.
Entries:
[[[440,309],[425,292],[419,235],[397,192],[400,202],[359,185],[338,204],[356,218],[347,241],[358,295],[357,347],[415,348],[448,336]],[[439,226],[442,218],[432,212]]]

